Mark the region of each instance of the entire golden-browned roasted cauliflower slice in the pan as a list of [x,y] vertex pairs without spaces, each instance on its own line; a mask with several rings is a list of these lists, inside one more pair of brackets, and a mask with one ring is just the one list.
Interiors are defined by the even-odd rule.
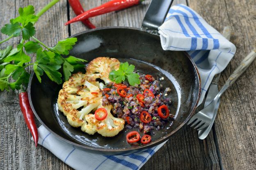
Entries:
[[[125,121],[112,116],[112,105],[102,106],[101,89],[104,84],[96,81],[100,78],[105,83],[110,82],[109,73],[118,69],[119,64],[115,58],[95,58],[89,63],[86,74],[73,74],[63,84],[57,103],[71,126],[81,127],[88,134],[98,132],[102,136],[115,136],[123,130]],[[89,114],[100,107],[107,110],[107,118],[103,121],[98,121],[94,114]]]

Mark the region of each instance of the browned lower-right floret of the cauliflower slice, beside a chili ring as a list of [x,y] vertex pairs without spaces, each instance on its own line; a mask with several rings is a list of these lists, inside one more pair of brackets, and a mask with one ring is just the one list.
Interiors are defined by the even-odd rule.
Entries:
[[[98,108],[103,107],[98,106]],[[107,110],[107,117],[103,121],[97,124],[97,132],[102,136],[112,137],[117,135],[121,130],[124,128],[125,121],[120,118],[115,118],[111,113],[110,110],[112,105],[106,105],[103,108]]]

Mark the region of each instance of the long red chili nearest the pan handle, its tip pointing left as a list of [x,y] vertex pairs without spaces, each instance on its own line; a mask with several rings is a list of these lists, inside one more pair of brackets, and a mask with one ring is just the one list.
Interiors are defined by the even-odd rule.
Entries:
[[89,9],[88,11],[85,11],[84,13],[81,13],[80,15],[76,16],[75,18],[69,20],[66,22],[65,25],[69,25],[73,22],[78,22],[80,20],[85,20],[94,16],[99,16],[104,13],[109,13],[112,11],[118,11],[121,9],[125,9],[128,7],[131,7],[133,5],[139,4],[139,2],[142,2],[143,0],[111,0],[109,2],[106,2],[105,4],[102,4],[101,6]]

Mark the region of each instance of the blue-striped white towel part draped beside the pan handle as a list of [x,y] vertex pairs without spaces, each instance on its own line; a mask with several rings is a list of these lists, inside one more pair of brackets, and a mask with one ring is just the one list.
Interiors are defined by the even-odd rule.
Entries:
[[171,7],[158,30],[164,50],[187,51],[196,63],[201,77],[201,104],[213,76],[233,58],[235,45],[184,4]]

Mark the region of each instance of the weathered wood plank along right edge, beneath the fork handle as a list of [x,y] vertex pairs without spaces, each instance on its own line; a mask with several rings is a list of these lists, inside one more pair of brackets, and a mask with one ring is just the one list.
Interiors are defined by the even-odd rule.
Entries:
[[[230,25],[231,42],[237,52],[224,70],[220,84],[256,47],[256,4],[254,0],[190,0],[193,9],[217,30]],[[224,169],[256,169],[256,61],[225,92],[220,103],[215,131]]]

